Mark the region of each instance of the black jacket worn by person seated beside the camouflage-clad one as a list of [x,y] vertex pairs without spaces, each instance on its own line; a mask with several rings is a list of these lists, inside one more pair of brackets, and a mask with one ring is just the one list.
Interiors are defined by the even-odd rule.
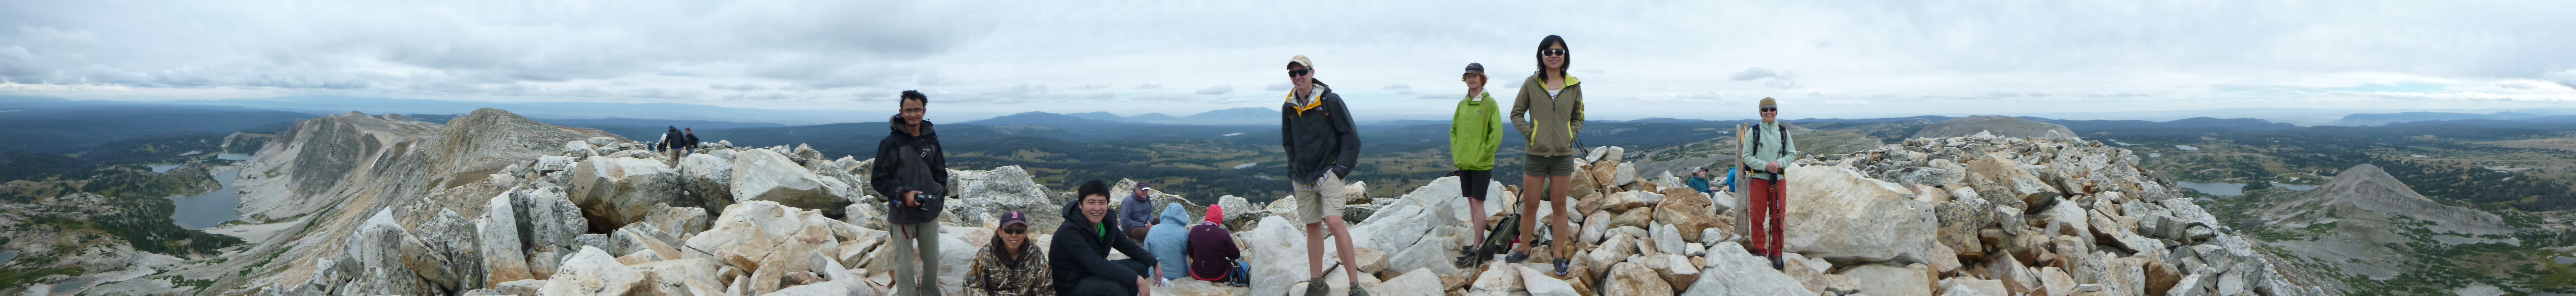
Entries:
[[[1105,227],[1105,229],[1103,229]],[[1064,227],[1056,227],[1056,242],[1046,247],[1046,265],[1056,273],[1056,293],[1072,293],[1074,283],[1097,275],[1115,283],[1139,278],[1136,270],[1110,263],[1110,250],[1133,257],[1136,263],[1154,265],[1154,255],[1144,252],[1136,239],[1128,239],[1118,219],[1100,216],[1100,224],[1082,219],[1082,201],[1064,203]]]

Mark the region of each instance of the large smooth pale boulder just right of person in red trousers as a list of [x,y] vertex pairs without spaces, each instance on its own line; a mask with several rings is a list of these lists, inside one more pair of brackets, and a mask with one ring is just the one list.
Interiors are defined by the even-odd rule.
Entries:
[[1850,263],[1929,260],[1937,219],[1932,203],[1909,198],[1911,190],[1850,167],[1801,165],[1788,175],[1806,188],[1785,196],[1788,252]]

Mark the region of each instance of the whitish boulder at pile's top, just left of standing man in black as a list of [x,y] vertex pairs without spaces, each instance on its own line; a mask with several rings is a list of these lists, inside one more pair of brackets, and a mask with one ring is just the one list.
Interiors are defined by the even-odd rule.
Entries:
[[786,154],[742,149],[734,154],[734,203],[778,201],[796,208],[840,208],[855,201],[848,183],[814,175]]

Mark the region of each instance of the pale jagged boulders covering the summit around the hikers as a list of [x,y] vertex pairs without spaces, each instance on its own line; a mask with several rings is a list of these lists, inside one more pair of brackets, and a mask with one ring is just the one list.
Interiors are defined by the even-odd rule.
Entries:
[[[1486,257],[1471,245],[1458,178],[1350,206],[1360,283],[1337,296],[2324,296],[2303,270],[2249,245],[2138,154],[2050,136],[1906,139],[1790,167],[1785,270],[1744,247],[1741,201],[1638,172],[1620,147],[1579,157],[1571,273]],[[137,293],[227,296],[886,296],[891,237],[873,160],[806,147],[703,144],[680,160],[590,129],[474,111],[451,124],[325,116],[242,167],[245,214],[276,224],[250,247],[165,273],[216,278]],[[1151,175],[1136,175],[1151,178]],[[945,293],[1002,211],[1061,216],[1061,188],[1020,167],[953,170],[940,216]],[[1121,183],[1128,188],[1131,183]],[[1499,219],[1520,188],[1486,183]],[[1193,221],[1203,206],[1185,203]],[[1288,203],[1224,196],[1252,286],[1175,281],[1172,296],[1296,296],[1303,227]],[[1533,201],[1538,203],[1538,201]],[[1540,206],[1548,208],[1548,206]],[[1556,211],[1530,214],[1558,216]],[[1489,219],[1489,221],[1494,221]],[[1540,227],[1546,229],[1546,227]],[[1327,247],[1327,252],[1332,252]],[[1342,278],[1334,268],[1329,278]],[[134,283],[142,286],[142,283]]]

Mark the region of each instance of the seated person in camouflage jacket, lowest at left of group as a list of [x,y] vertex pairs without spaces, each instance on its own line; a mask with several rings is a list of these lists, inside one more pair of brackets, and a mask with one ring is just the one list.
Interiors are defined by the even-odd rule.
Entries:
[[969,296],[1056,296],[1056,281],[1046,268],[1046,252],[1028,242],[1028,216],[1002,214],[1002,229],[966,268]]

